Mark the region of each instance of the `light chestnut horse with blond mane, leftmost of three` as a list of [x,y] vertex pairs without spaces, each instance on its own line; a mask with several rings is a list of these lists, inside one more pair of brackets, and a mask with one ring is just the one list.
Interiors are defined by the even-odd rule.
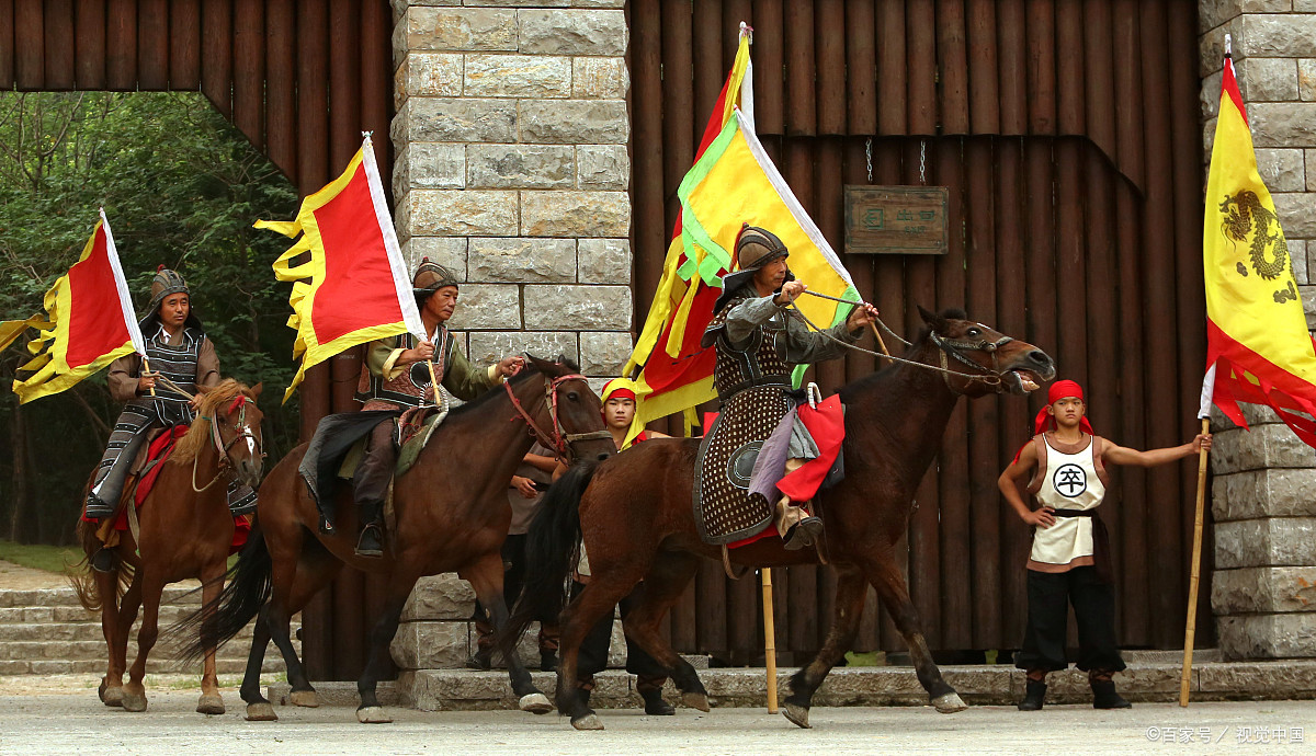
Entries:
[[[109,647],[109,669],[100,682],[100,698],[107,706],[128,711],[146,710],[146,655],[158,635],[161,594],[179,580],[204,581],[203,598],[218,597],[224,585],[229,547],[233,543],[233,515],[229,514],[228,479],[255,486],[261,483],[261,418],[257,397],[261,384],[247,388],[232,379],[216,387],[197,387],[201,406],[187,435],[161,468],[155,484],[142,501],[136,534],[124,531],[114,572],[95,572],[89,559],[101,543],[96,523],[82,521],[78,535],[88,561],[74,577],[82,605],[100,610],[101,631]],[[121,506],[133,506],[136,486],[125,486]],[[200,490],[197,490],[200,488]],[[137,632],[137,659],[124,685],[128,664],[128,632],[145,607]],[[201,714],[224,714],[218,681],[215,676],[215,644],[204,651]]]

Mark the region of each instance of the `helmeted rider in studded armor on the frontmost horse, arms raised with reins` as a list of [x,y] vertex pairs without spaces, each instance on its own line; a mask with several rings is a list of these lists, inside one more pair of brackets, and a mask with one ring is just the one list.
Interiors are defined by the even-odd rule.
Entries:
[[[878,317],[865,302],[826,331],[811,331],[799,312],[788,309],[808,289],[795,280],[786,264],[786,245],[769,230],[746,225],[736,239],[740,270],[722,279],[722,295],[713,305],[713,319],[701,346],[717,350],[713,383],[721,400],[724,429],[747,426],[736,437],[762,440],[795,405],[790,397],[791,369],[842,356]],[[776,502],[774,523],[786,548],[813,546],[822,535],[822,521],[809,502]]]

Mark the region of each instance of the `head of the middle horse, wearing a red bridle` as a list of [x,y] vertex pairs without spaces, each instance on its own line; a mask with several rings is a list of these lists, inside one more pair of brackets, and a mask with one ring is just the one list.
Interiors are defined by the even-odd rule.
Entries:
[[[565,355],[555,362],[525,355],[526,368],[544,376],[542,401],[528,413],[540,443],[575,461],[603,461],[617,452],[603,421],[603,402],[580,368]],[[546,429],[546,430],[545,430]],[[547,438],[544,438],[547,437]]]

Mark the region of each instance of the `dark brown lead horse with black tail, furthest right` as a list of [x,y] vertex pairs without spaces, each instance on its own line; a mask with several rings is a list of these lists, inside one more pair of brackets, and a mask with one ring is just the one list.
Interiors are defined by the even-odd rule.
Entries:
[[[837,571],[837,611],[817,657],[791,678],[784,714],[800,727],[809,726],[815,690],[854,642],[869,584],[904,636],[932,703],[942,713],[965,709],[928,652],[895,544],[959,397],[1025,393],[1054,377],[1055,367],[1037,347],[963,319],[961,312],[920,312],[929,327],[904,355],[919,364],[886,368],[840,392],[846,405],[846,476],[816,501],[826,527],[820,548]],[[530,618],[551,617],[562,606],[561,586],[583,536],[591,580],[562,611],[557,689],[558,710],[578,730],[603,728],[575,693],[580,642],[641,580],[642,598],[626,617],[626,636],[671,671],[688,706],[708,711],[695,669],[658,634],[658,622],[684,592],[699,557],[721,557],[721,548],[703,543],[695,529],[691,492],[697,450],[697,439],[658,439],[603,464],[578,467],[549,489],[532,523],[528,563],[537,569],[500,644],[509,648]],[[779,538],[732,550],[729,556],[746,567],[819,560],[812,550],[786,551]]]

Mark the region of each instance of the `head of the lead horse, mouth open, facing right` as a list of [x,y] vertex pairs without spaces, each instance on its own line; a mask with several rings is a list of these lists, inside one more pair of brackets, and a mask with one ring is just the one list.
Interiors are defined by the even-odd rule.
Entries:
[[967,319],[962,310],[919,313],[928,323],[928,341],[946,388],[957,394],[979,397],[1009,392],[1025,394],[1055,377],[1055,360],[1036,346]]

